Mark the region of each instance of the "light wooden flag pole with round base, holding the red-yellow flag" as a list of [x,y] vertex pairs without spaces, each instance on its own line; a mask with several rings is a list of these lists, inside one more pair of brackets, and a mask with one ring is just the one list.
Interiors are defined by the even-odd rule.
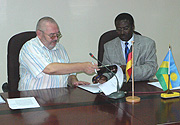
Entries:
[[134,60],[133,60],[133,53],[134,53],[134,41],[132,41],[132,96],[126,97],[127,102],[136,103],[140,102],[141,98],[138,96],[134,96]]

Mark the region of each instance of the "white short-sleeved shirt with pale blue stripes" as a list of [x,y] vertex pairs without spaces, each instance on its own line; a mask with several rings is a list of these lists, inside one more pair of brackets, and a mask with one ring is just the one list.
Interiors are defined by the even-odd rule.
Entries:
[[18,90],[67,87],[67,79],[70,74],[49,75],[42,72],[48,64],[54,62],[70,63],[67,52],[60,43],[49,50],[38,37],[26,42],[19,54],[20,81]]

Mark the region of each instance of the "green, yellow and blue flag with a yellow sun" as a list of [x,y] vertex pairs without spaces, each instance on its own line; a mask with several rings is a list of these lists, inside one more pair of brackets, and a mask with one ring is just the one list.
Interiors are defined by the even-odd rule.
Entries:
[[[170,64],[169,64],[170,62]],[[170,78],[169,78],[170,76]],[[169,49],[166,57],[164,58],[161,66],[159,67],[159,70],[156,73],[156,77],[159,80],[159,83],[161,84],[163,91],[166,91],[168,89],[168,81],[169,89],[175,88],[180,86],[180,76],[179,72],[177,70],[177,67],[175,65],[172,52]]]

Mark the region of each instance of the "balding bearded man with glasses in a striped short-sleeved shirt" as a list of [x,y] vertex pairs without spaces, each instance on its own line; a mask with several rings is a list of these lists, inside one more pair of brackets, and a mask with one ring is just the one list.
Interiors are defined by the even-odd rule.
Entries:
[[97,65],[91,62],[70,63],[65,48],[59,43],[62,35],[53,18],[41,18],[36,34],[23,45],[19,54],[19,91],[90,84],[78,81],[76,72],[92,74],[95,69],[99,70]]

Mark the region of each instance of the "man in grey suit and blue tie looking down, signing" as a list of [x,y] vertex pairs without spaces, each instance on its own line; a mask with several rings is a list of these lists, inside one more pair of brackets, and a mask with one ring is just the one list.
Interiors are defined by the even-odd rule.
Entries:
[[[134,19],[128,13],[121,13],[115,18],[115,27],[118,37],[104,44],[102,63],[118,64],[125,73],[126,47],[130,49],[134,41],[134,80],[143,81],[152,78],[158,67],[155,41],[146,36],[134,34]],[[107,81],[107,77],[108,75],[104,74],[98,78],[95,76],[93,82],[103,83]]]

